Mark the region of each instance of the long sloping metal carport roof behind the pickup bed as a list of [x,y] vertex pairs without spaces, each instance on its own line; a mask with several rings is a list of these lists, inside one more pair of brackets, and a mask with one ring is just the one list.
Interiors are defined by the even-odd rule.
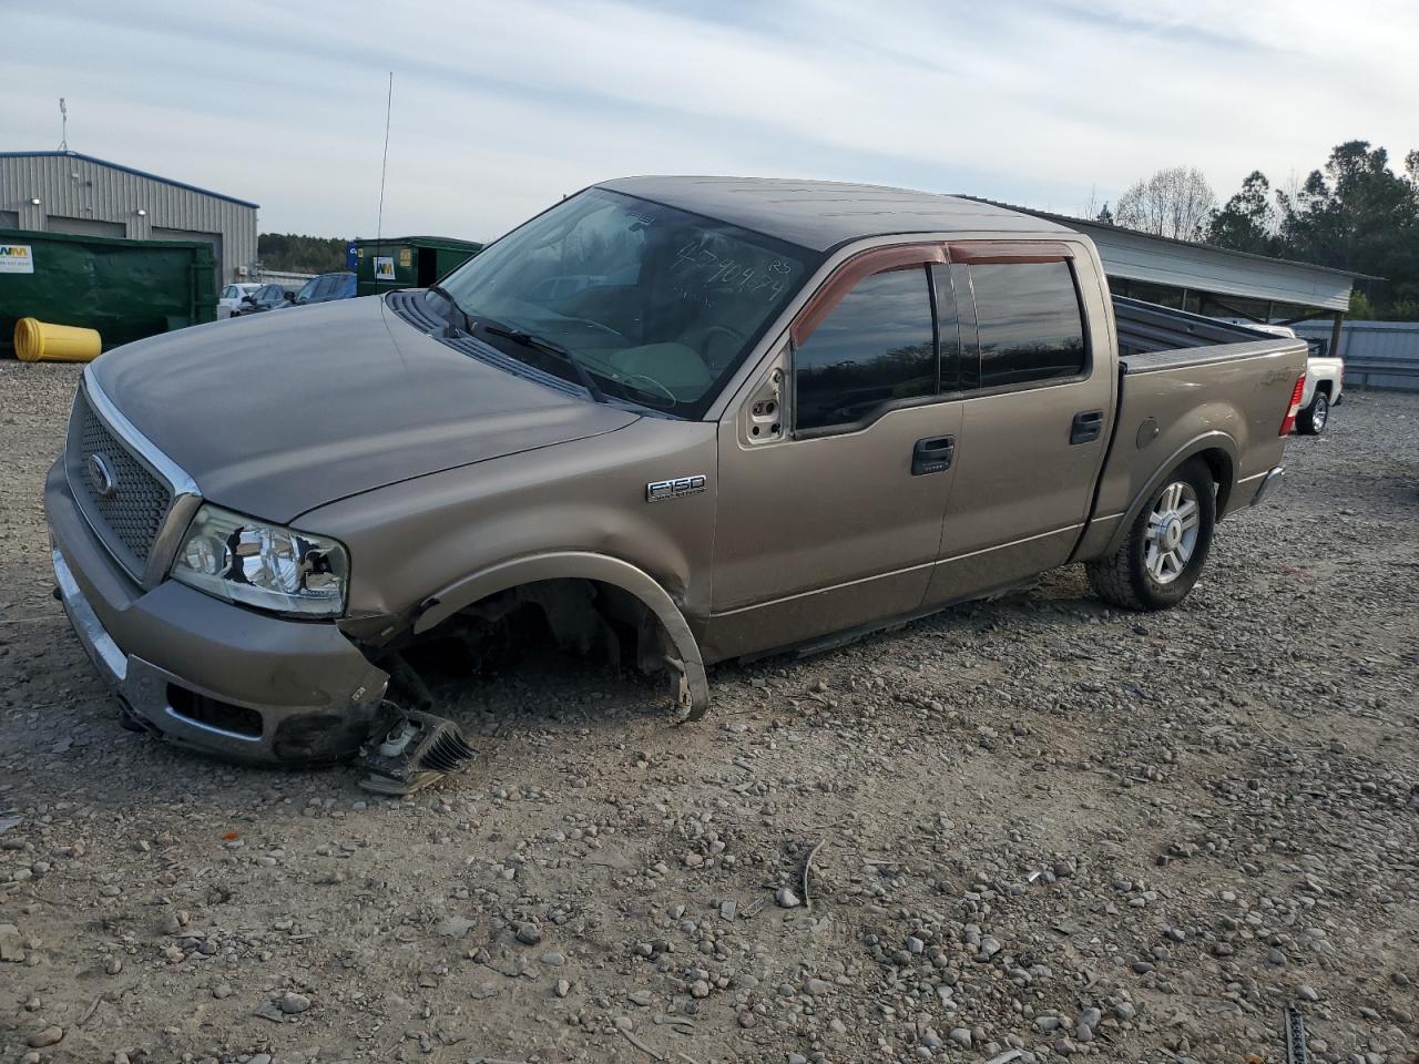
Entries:
[[1345,312],[1349,309],[1349,291],[1355,278],[1368,277],[1348,270],[1155,237],[1029,207],[1010,209],[1078,230],[1094,241],[1104,272],[1130,281]]

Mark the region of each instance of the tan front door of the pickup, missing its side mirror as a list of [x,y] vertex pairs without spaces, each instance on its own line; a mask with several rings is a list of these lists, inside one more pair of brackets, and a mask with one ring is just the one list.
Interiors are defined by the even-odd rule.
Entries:
[[708,658],[921,607],[961,427],[942,261],[939,245],[912,245],[844,262],[790,328],[790,423],[721,421]]

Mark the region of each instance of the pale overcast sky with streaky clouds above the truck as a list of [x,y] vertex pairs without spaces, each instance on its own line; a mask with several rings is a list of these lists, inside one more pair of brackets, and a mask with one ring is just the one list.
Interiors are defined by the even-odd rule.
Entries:
[[0,150],[57,148],[65,96],[71,149],[315,235],[375,231],[389,71],[386,234],[487,240],[634,173],[1077,211],[1178,163],[1226,199],[1419,148],[1412,0],[0,0]]

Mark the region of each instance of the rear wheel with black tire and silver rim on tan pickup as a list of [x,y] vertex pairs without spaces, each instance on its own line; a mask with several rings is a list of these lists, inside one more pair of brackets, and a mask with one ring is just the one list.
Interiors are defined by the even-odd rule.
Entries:
[[[1164,497],[1172,492],[1176,485],[1182,485],[1178,488],[1182,509],[1164,508],[1164,512],[1191,515],[1191,511],[1186,511],[1186,504],[1195,502],[1198,516],[1196,536],[1192,539],[1192,548],[1181,567],[1175,565],[1176,559],[1182,558],[1176,548],[1182,546],[1185,539],[1175,543],[1168,541],[1166,536],[1174,535],[1174,531],[1166,526],[1149,536],[1154,511],[1159,509]],[[1186,498],[1189,491],[1191,499]],[[1213,494],[1212,471],[1200,458],[1189,458],[1164,478],[1162,487],[1152,494],[1134,519],[1122,546],[1107,558],[1086,563],[1090,587],[1104,602],[1125,610],[1166,610],[1169,606],[1176,606],[1188,597],[1188,592],[1202,575],[1202,566],[1206,565],[1208,553],[1212,550],[1212,531],[1216,519],[1218,501]],[[1181,529],[1183,523],[1185,518],[1179,516],[1178,528]],[[1178,532],[1178,535],[1185,536],[1186,533]],[[1164,550],[1169,545],[1172,549]],[[1154,552],[1169,555],[1172,559],[1172,563],[1164,559],[1161,576],[1149,567],[1149,560],[1155,558]]]

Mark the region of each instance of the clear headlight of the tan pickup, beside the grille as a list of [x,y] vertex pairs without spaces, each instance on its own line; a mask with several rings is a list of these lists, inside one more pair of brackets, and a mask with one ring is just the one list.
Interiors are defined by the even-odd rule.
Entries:
[[275,613],[338,617],[350,562],[333,539],[203,505],[172,576],[199,592]]

